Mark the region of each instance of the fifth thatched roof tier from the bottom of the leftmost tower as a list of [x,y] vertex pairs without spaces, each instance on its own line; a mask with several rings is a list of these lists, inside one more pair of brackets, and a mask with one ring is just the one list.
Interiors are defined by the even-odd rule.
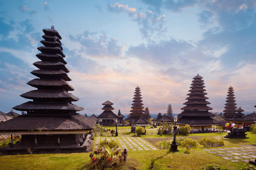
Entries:
[[72,81],[66,72],[62,71],[62,70],[34,70],[31,71],[31,74],[39,77],[39,78],[43,78],[43,79],[49,79],[49,78],[63,78],[65,81]]

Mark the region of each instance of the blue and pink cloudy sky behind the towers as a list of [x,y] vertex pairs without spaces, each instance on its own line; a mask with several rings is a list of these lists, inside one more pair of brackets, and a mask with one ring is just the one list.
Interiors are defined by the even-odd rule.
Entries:
[[[203,77],[211,112],[222,112],[228,88],[236,106],[256,110],[256,0],[0,0],[0,111],[30,101],[30,72],[40,61],[43,29],[62,37],[70,92],[80,114],[114,103],[127,116],[135,88],[150,114],[173,113]],[[20,111],[15,111],[20,113]]]

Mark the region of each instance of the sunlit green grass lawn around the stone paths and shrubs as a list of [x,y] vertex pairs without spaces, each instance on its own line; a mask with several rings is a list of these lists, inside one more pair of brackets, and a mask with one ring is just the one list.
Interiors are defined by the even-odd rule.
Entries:
[[[106,127],[113,128],[115,127]],[[146,128],[150,133],[155,133],[157,128]],[[130,134],[130,127],[118,127],[119,136]],[[223,138],[227,133],[200,133],[200,134],[188,134],[177,135],[177,137],[192,137],[199,138],[204,136],[218,136]],[[252,135],[247,132],[249,139],[225,139],[223,148],[226,146],[248,145],[256,144],[256,135]],[[130,134],[129,136],[131,136]],[[153,145],[157,145],[157,141],[166,137],[172,138],[173,135],[146,135],[137,136],[143,137],[145,140],[151,142]],[[228,170],[240,170],[245,162],[231,162],[230,160],[223,159],[214,154],[210,154],[203,151],[204,148],[191,149],[190,154],[185,154],[186,148],[178,146],[179,152],[171,153],[168,149],[163,150],[142,150],[142,151],[128,151],[127,170],[150,170],[151,158],[155,159],[156,170],[165,169],[184,169],[184,170],[199,170],[206,164],[218,164],[225,166]],[[82,170],[88,169],[90,153],[70,153],[70,154],[33,154],[33,155],[4,155],[0,156],[0,169],[5,170]]]

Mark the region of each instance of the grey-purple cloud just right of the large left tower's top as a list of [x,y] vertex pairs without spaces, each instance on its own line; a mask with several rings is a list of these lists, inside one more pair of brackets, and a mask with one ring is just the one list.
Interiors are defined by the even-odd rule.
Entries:
[[84,34],[78,34],[75,37],[69,35],[69,39],[73,42],[79,42],[82,47],[80,51],[85,52],[86,55],[94,57],[120,57],[124,46],[117,45],[118,39],[107,40],[106,35],[100,35],[99,38],[91,38],[89,35],[95,35],[85,31]]

